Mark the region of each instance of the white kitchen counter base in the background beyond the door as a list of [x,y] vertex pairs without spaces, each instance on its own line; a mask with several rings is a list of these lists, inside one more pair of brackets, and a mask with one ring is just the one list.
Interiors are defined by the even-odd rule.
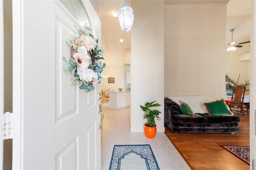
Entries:
[[130,107],[130,91],[110,91],[109,107],[111,109]]

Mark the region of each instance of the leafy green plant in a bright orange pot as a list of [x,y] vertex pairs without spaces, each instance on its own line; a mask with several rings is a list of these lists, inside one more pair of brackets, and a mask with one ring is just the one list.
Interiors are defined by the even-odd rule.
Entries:
[[143,119],[147,119],[147,123],[144,124],[144,132],[147,138],[154,138],[156,136],[155,118],[157,120],[160,119],[158,115],[161,112],[155,110],[155,107],[159,107],[161,105],[155,102],[156,101],[152,101],[151,103],[148,102],[145,104],[145,106],[140,105],[140,108],[145,112],[145,115],[143,115]]

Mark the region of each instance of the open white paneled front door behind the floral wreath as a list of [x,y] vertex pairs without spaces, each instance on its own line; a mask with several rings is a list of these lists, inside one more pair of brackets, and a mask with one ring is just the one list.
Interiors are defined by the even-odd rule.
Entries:
[[78,22],[59,1],[12,3],[13,112],[21,117],[12,168],[100,169],[100,86],[88,93],[71,86],[62,68]]

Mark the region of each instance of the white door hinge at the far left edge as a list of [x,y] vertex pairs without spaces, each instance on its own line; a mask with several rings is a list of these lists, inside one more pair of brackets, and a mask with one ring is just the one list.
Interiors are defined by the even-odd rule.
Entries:
[[1,140],[20,138],[20,115],[6,112],[1,114]]

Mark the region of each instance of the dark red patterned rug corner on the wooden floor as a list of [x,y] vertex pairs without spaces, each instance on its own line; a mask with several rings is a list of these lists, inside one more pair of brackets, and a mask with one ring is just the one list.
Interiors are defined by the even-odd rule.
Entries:
[[228,152],[250,165],[250,147],[249,146],[222,146]]

